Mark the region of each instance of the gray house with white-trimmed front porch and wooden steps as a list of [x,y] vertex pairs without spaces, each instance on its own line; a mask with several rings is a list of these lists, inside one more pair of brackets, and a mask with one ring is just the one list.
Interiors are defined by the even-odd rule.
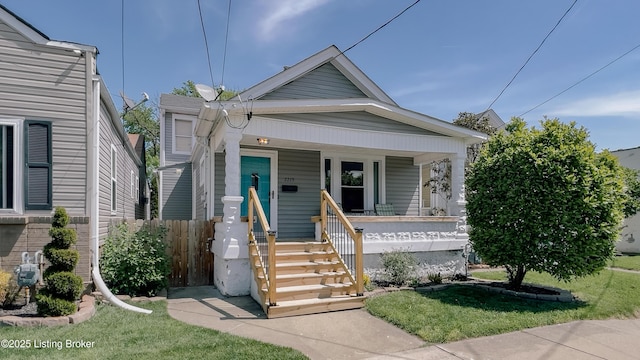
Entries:
[[[326,228],[325,220],[336,218],[327,214],[338,209],[323,208],[328,200],[321,197],[327,194],[346,214],[346,228],[363,229],[365,262],[367,255],[394,248],[429,253],[441,263],[462,259],[467,244],[464,216],[459,216],[464,198],[456,199],[463,188],[466,148],[486,135],[400,107],[334,46],[229,101],[162,95],[160,112],[163,217],[213,219],[216,287],[229,295],[251,293],[269,317],[362,306],[347,296],[358,290],[342,287],[351,286],[349,282],[329,284],[335,280],[330,277],[347,272],[351,281],[361,279],[360,270],[344,270],[348,261],[337,260],[333,250],[309,250],[325,246],[328,239],[336,249],[351,241],[345,232]],[[423,168],[444,158],[451,159],[455,197],[444,204],[445,216],[427,216]],[[245,217],[250,187],[257,194],[251,195],[252,203],[257,196],[277,244],[304,241],[302,250],[276,254],[288,264],[267,266],[266,243],[258,249],[249,241],[253,235],[248,227],[255,222],[246,223]],[[345,255],[354,251],[361,252],[345,250]],[[300,274],[266,280],[267,267],[280,271],[299,266],[294,258],[308,264],[299,256],[318,253],[326,261],[311,260],[311,265],[340,266],[328,272],[300,269]],[[276,279],[281,285],[272,291]],[[320,283],[308,285],[313,281]],[[336,289],[344,290],[338,297],[347,298],[333,293],[306,298],[316,290]]]

